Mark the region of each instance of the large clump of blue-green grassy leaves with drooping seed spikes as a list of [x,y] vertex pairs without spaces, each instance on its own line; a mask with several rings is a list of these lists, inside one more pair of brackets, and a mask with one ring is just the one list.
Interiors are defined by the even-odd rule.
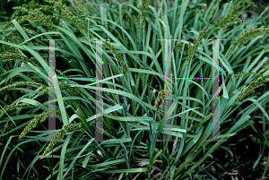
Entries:
[[[253,124],[251,115],[258,108],[269,120],[264,107],[269,102],[269,92],[251,94],[251,90],[268,80],[269,74],[268,70],[259,71],[268,63],[267,29],[257,27],[263,17],[242,23],[239,19],[242,9],[234,8],[237,12],[230,13],[233,4],[227,3],[217,18],[215,0],[206,10],[202,9],[205,4],[200,0],[195,4],[176,0],[171,7],[167,1],[161,1],[164,8],[158,11],[155,8],[158,4],[152,1],[119,4],[73,0],[71,9],[61,1],[44,2],[47,4],[31,2],[16,7],[13,21],[0,30],[3,107],[0,119],[12,118],[17,125],[25,124],[23,118],[16,117],[19,112],[14,111],[13,105],[28,107],[23,112],[29,115],[27,118],[34,118],[17,127],[20,141],[48,139],[47,131],[36,137],[30,135],[48,119],[47,107],[51,103],[47,98],[40,99],[49,92],[46,60],[49,48],[42,39],[62,39],[55,41],[56,75],[65,77],[55,81],[57,133],[49,145],[39,146],[43,155],[37,153],[29,166],[33,167],[40,158],[51,158],[60,150],[60,156],[54,159],[57,161],[54,174],[47,178],[191,179],[202,178],[202,173],[208,176],[201,173],[199,166],[222,143],[210,141],[212,81],[188,78],[212,77],[213,42],[206,39],[227,39],[220,41],[219,49],[220,124],[229,128],[221,128],[220,139],[227,140]],[[128,8],[123,8],[124,5]],[[9,42],[11,38],[19,43]],[[103,138],[107,141],[93,141],[97,119],[94,112],[98,104],[94,39],[102,39],[104,44],[100,107]],[[161,39],[178,39],[172,40],[172,77],[183,77],[173,79],[172,91],[167,92],[173,101],[169,125],[165,124],[166,112],[159,108],[168,95],[161,90],[166,81],[165,44]],[[108,55],[111,53],[115,56]],[[240,72],[247,74],[228,79]],[[32,86],[33,90],[23,86]],[[231,116],[246,101],[248,106],[237,116]],[[164,141],[168,133],[165,128],[170,129],[173,142]],[[56,142],[58,139],[64,141]],[[0,159],[0,179],[7,176],[4,174],[9,160],[6,154],[13,153],[6,151],[9,143],[6,142]],[[37,175],[30,169],[27,172]],[[29,174],[23,174],[22,178],[29,178]]]

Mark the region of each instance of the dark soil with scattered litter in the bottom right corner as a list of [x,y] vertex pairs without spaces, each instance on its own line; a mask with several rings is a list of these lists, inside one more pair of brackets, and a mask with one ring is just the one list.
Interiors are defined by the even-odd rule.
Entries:
[[[269,126],[267,125],[267,129]],[[205,170],[213,175],[216,179],[238,179],[238,180],[262,180],[269,179],[269,171],[266,172],[265,177],[262,175],[265,170],[265,164],[268,155],[269,147],[265,147],[262,158],[259,159],[257,166],[253,169],[256,159],[263,150],[262,144],[257,144],[251,140],[252,136],[256,133],[249,126],[247,129],[235,134],[228,141],[223,142],[221,145],[230,150],[219,148],[215,150],[212,155],[213,159],[205,161],[204,164],[211,166]]]

